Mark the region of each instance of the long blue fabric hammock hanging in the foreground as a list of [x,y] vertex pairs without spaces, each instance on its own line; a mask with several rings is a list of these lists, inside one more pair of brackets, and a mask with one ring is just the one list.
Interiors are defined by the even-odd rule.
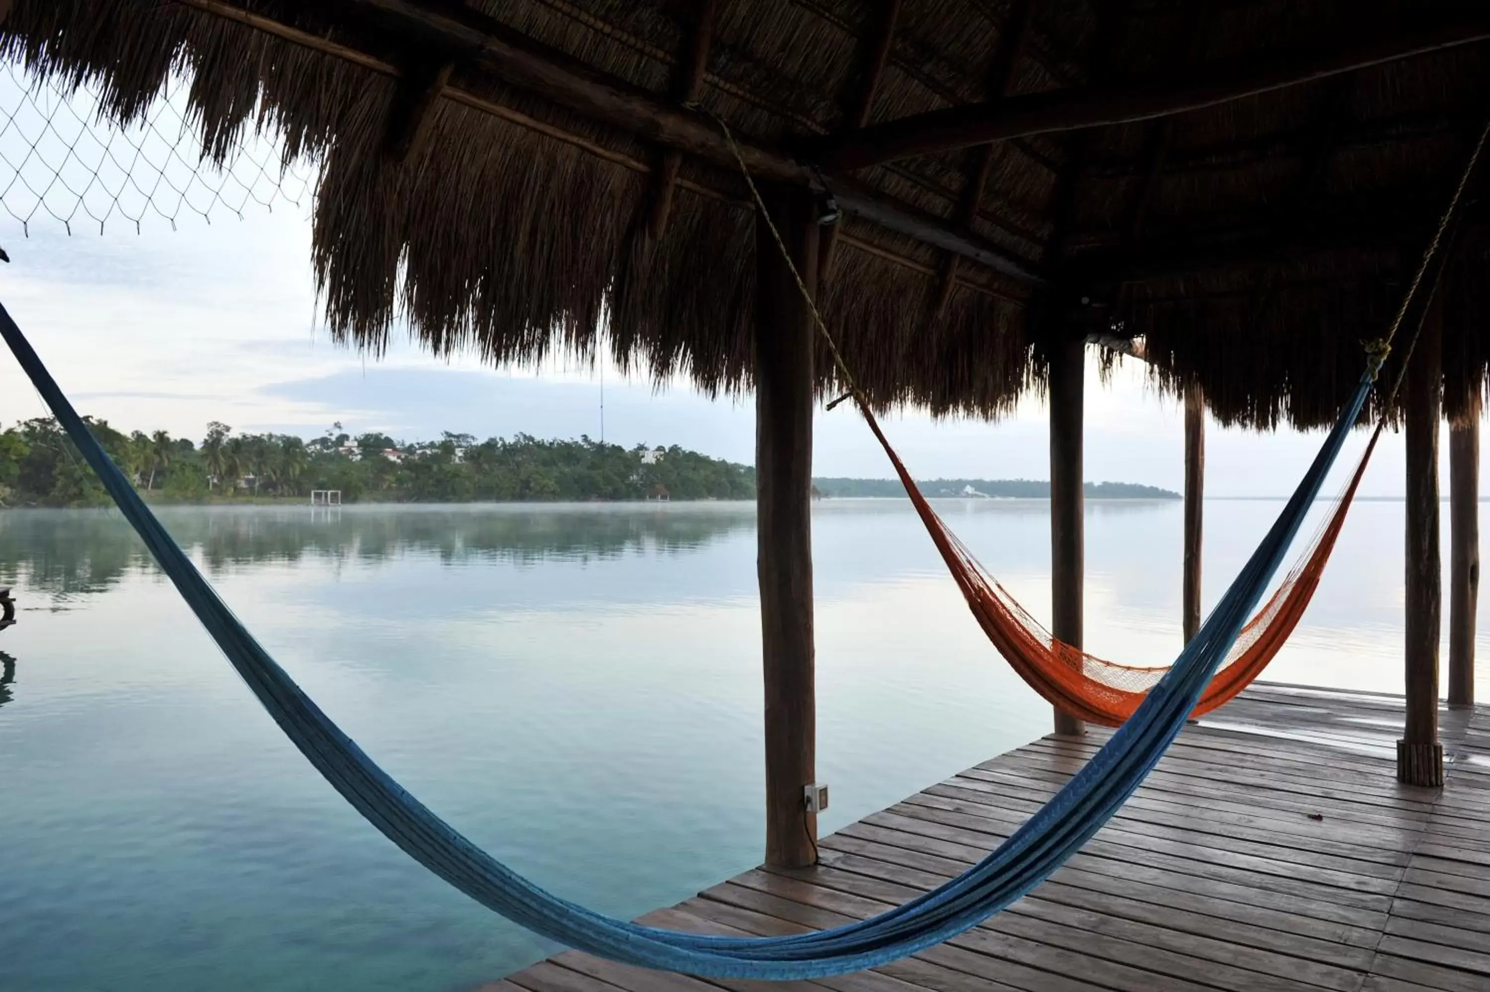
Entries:
[[642,926],[545,892],[493,859],[405,792],[295,685],[218,598],[83,425],[0,307],[0,336],[146,547],[285,735],[362,816],[419,864],[544,937],[644,968],[718,979],[817,979],[873,968],[976,926],[1021,898],[1095,834],[1164,755],[1261,600],[1360,415],[1372,360],[1277,522],[1132,718],[992,853],[940,888],[873,919],[790,937],[712,937]]

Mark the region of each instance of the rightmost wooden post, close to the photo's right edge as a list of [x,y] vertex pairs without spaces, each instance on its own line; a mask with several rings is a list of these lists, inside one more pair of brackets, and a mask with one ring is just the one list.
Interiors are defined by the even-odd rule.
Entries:
[[1448,431],[1448,706],[1475,703],[1480,606],[1480,409]]

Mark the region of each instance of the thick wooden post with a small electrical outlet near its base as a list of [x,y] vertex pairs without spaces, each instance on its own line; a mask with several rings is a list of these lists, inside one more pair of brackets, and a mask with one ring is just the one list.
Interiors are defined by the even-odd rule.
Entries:
[[[818,271],[811,194],[766,191],[770,216],[809,291]],[[814,327],[764,218],[755,218],[757,574],[766,676],[766,864],[817,862],[812,647]]]

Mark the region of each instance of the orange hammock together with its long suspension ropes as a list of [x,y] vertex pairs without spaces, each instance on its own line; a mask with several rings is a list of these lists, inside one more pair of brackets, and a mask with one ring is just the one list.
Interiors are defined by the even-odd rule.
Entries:
[[[885,437],[885,433],[881,430],[879,419],[875,416],[875,410],[870,406],[869,398],[854,382],[854,374],[849,370],[848,362],[843,360],[837,343],[833,340],[833,334],[828,331],[822,315],[818,312],[814,294],[808,289],[802,274],[797,271],[797,267],[791,260],[791,252],[787,251],[785,240],[781,237],[776,222],[766,209],[766,201],[761,198],[760,189],[755,186],[755,180],[745,164],[745,158],[741,154],[739,145],[735,142],[735,134],[730,131],[729,124],[726,124],[718,115],[711,113],[711,116],[724,133],[726,143],[735,155],[741,175],[744,176],[751,197],[755,201],[757,216],[761,218],[770,230],[772,239],[776,242],[776,248],[781,252],[782,260],[785,260],[787,269],[791,271],[791,276],[797,283],[797,289],[802,292],[802,298],[808,304],[812,322],[827,345],[828,354],[833,357],[833,364],[837,368],[839,376],[843,379],[843,385],[848,386],[848,392],[833,400],[827,409],[831,410],[845,400],[854,400],[858,412],[864,418],[864,422],[869,424],[869,430],[875,434],[875,439],[884,449],[885,456],[890,458],[890,464],[894,467],[895,476],[904,486],[906,495],[910,497],[910,503],[915,507],[916,515],[921,518],[922,525],[927,528],[933,544],[942,555],[942,561],[946,564],[948,571],[963,591],[963,597],[967,600],[968,609],[977,619],[979,627],[983,630],[988,640],[997,647],[998,653],[1003,655],[1009,665],[1019,674],[1019,677],[1024,679],[1030,688],[1044,697],[1046,701],[1070,716],[1106,726],[1122,725],[1122,722],[1131,718],[1138,709],[1144,694],[1158,685],[1164,673],[1168,671],[1168,667],[1125,665],[1091,655],[1079,647],[1058,640],[1044,625],[1040,624],[1040,621],[1036,619],[1030,610],[1021,606],[1019,601],[1015,600],[1015,597],[1003,585],[1000,585],[992,573],[983,567],[973,552],[957,537],[957,534],[952,533],[946,522],[942,521],[927,501],[925,495],[922,495],[915,479],[906,470],[900,455]],[[1439,216],[1433,237],[1423,252],[1423,258],[1413,276],[1413,282],[1410,283],[1407,294],[1404,294],[1402,303],[1398,307],[1387,333],[1381,339],[1365,343],[1368,364],[1375,368],[1380,368],[1387,355],[1392,352],[1392,343],[1402,330],[1402,324],[1407,321],[1407,316],[1413,309],[1413,303],[1421,291],[1423,280],[1427,276],[1433,260],[1438,258],[1454,219],[1459,216],[1465,191],[1480,166],[1487,139],[1490,139],[1490,121],[1486,122],[1484,130],[1480,133],[1480,140],[1475,143],[1474,151],[1459,176],[1459,182],[1454,186],[1448,206]],[[1439,270],[1438,276],[1442,276],[1442,270]],[[1438,291],[1438,282],[1439,279],[1435,277],[1429,289],[1429,297],[1420,313],[1427,312],[1427,306],[1432,303],[1433,294]],[[1420,327],[1421,321],[1418,322],[1418,328]],[[1335,549],[1335,541],[1344,528],[1345,516],[1350,513],[1350,506],[1360,486],[1360,480],[1365,476],[1366,467],[1371,462],[1371,455],[1375,453],[1377,440],[1381,437],[1381,430],[1386,425],[1386,410],[1392,407],[1398,391],[1402,388],[1408,361],[1411,360],[1413,351],[1417,345],[1417,337],[1418,336],[1414,331],[1413,337],[1407,343],[1407,348],[1404,349],[1398,373],[1381,404],[1383,416],[1378,418],[1377,425],[1371,433],[1371,440],[1366,443],[1365,452],[1362,453],[1356,470],[1351,473],[1341,495],[1337,498],[1335,509],[1316,531],[1313,540],[1305,546],[1304,552],[1298,558],[1298,562],[1289,570],[1278,589],[1258,612],[1258,615],[1241,630],[1237,643],[1226,653],[1211,679],[1211,685],[1207,686],[1205,692],[1198,700],[1192,716],[1210,713],[1240,695],[1243,689],[1252,685],[1252,682],[1262,674],[1268,664],[1277,658],[1299,621],[1302,621],[1304,612],[1308,609],[1310,601],[1314,598],[1314,591],[1319,588],[1325,565],[1329,562],[1329,556]]]

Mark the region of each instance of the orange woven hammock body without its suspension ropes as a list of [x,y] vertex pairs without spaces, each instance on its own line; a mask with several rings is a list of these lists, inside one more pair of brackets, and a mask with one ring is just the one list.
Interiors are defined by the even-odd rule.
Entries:
[[[890,461],[895,467],[895,474],[900,476],[900,482],[906,486],[916,513],[921,515],[921,521],[931,534],[931,540],[936,543],[937,550],[942,552],[942,559],[951,570],[957,585],[963,589],[963,595],[967,597],[967,604],[971,607],[973,616],[977,618],[977,624],[988,634],[988,640],[994,643],[1013,670],[1030,683],[1030,688],[1062,712],[1092,723],[1104,723],[1107,726],[1122,725],[1138,709],[1149,689],[1158,685],[1164,673],[1170,670],[1168,665],[1159,668],[1119,665],[1118,662],[1088,655],[1052,637],[979,564],[973,552],[958,540],[957,534],[948,530],[942,518],[937,516],[925,497],[921,495],[910,473],[900,462],[900,456],[895,455],[890,442],[881,433],[873,415],[867,409],[864,413],[870,430],[875,431],[875,437],[884,446],[885,453],[890,455]],[[1380,436],[1381,428],[1377,427],[1371,434],[1371,442],[1366,445],[1360,464],[1356,465],[1356,471],[1345,485],[1335,509],[1325,518],[1305,553],[1284,577],[1277,592],[1272,594],[1272,598],[1243,628],[1231,653],[1226,655],[1226,659],[1217,668],[1210,686],[1195,707],[1195,716],[1210,713],[1246,689],[1262,674],[1262,670],[1277,656],[1293,632],[1293,628],[1298,627],[1304,610],[1314,597],[1314,589],[1319,588],[1325,562],[1329,561],[1329,555],[1335,549],[1335,539],[1340,537],[1340,530],[1345,524],[1345,513],[1350,510],[1350,503],[1360,486],[1360,479],[1366,471],[1366,464],[1371,461],[1371,452],[1375,451]]]

